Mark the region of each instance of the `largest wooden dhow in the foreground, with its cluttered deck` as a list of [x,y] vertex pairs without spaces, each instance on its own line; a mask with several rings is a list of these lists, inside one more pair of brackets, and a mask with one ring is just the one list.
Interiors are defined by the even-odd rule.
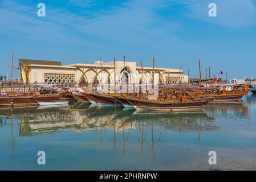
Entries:
[[[208,104],[213,98],[199,96],[198,89],[188,86],[159,87],[157,97],[150,94],[138,94],[136,97],[123,97],[136,110],[161,110],[161,111],[185,111],[198,110]],[[120,97],[117,97],[120,99]]]

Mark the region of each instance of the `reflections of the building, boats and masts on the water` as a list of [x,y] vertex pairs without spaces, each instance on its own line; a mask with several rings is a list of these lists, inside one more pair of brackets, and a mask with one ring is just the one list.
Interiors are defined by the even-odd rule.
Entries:
[[[246,101],[255,106],[256,97],[246,97]],[[156,113],[136,111],[116,107],[91,107],[82,103],[75,103],[64,107],[30,107],[20,109],[2,109],[0,127],[10,125],[11,129],[11,158],[14,155],[13,119],[18,119],[19,137],[38,134],[57,133],[63,130],[75,132],[100,132],[99,144],[103,143],[103,130],[113,131],[113,150],[117,148],[117,140],[123,141],[123,154],[127,151],[127,144],[135,131],[140,152],[144,152],[145,142],[151,142],[152,160],[155,161],[155,149],[161,148],[166,133],[194,132],[198,140],[202,131],[218,130],[215,116],[226,117],[227,113],[235,117],[249,117],[246,104],[211,104],[201,111],[183,113]],[[10,118],[10,123],[6,122]],[[120,139],[120,137],[122,137]]]

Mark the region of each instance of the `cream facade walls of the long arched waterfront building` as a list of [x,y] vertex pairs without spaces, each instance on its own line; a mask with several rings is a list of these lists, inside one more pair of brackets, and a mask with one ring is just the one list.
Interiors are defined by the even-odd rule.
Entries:
[[[109,76],[110,82],[114,82],[114,68],[113,62],[103,63],[101,65],[102,70],[100,71],[99,64],[75,64],[68,66],[49,66],[49,65],[29,65],[29,82],[45,82],[44,74],[73,74],[74,82],[79,83],[82,76],[88,83],[93,83],[97,73],[97,80],[103,83],[107,83],[107,77]],[[120,81],[121,71],[123,71],[124,64],[123,61],[116,61],[116,82]],[[136,62],[125,62],[125,70],[132,75],[129,75],[129,82],[139,83],[142,74],[140,67],[136,67]],[[152,80],[152,68],[145,68],[143,70],[143,80],[144,82],[149,82]],[[181,75],[180,72],[181,71]],[[168,74],[168,72],[170,72]],[[22,68],[23,81],[26,81],[25,68]],[[181,77],[181,82],[187,82],[188,76],[182,75],[182,69],[170,69],[170,68],[156,68],[154,74],[154,82],[158,83],[159,78],[161,78],[162,83],[165,83],[166,77]]]

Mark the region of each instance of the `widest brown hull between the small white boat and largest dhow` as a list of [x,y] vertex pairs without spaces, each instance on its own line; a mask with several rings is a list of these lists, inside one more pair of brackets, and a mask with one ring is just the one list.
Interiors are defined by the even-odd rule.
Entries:
[[94,94],[94,93],[88,93],[88,98],[90,100],[93,100],[96,102],[97,105],[99,106],[116,106],[116,105],[121,105],[119,100],[113,96],[108,96],[105,94]]

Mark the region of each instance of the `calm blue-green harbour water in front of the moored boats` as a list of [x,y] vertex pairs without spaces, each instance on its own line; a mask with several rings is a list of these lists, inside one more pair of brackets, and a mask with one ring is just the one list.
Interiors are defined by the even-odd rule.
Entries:
[[[190,113],[0,109],[1,170],[256,170],[256,96]],[[38,151],[46,165],[38,165]],[[209,165],[216,151],[217,165]]]

